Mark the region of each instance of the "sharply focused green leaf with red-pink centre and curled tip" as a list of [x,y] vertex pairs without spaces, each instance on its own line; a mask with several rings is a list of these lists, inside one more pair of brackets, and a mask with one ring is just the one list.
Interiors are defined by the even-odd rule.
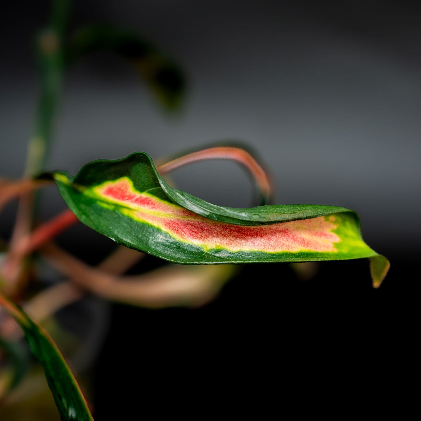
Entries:
[[136,250],[181,264],[372,258],[373,285],[389,262],[362,240],[346,208],[322,205],[216,206],[171,188],[144,152],[98,160],[72,177],[53,174],[84,224]]

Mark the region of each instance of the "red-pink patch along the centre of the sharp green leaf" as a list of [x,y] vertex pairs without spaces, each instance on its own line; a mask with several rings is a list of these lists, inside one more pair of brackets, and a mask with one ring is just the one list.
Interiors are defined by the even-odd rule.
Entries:
[[207,219],[148,193],[137,192],[127,177],[106,182],[93,190],[107,202],[123,206],[128,216],[205,250],[329,253],[336,252],[335,243],[341,241],[332,232],[337,227],[334,216],[271,225],[233,225]]

